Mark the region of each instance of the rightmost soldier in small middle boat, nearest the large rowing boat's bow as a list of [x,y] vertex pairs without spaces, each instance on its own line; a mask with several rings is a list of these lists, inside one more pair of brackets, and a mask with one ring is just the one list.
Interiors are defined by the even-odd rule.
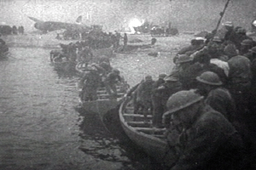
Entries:
[[103,80],[104,86],[106,87],[110,99],[117,99],[116,83],[122,82],[122,78],[119,74],[120,71],[118,69],[113,69]]

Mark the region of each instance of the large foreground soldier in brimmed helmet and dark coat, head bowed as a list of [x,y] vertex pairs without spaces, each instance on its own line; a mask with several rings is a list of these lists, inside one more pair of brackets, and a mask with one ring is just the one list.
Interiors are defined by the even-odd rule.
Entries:
[[242,168],[241,136],[221,113],[203,102],[201,95],[193,90],[179,91],[166,105],[166,138],[169,152],[176,156],[170,169]]

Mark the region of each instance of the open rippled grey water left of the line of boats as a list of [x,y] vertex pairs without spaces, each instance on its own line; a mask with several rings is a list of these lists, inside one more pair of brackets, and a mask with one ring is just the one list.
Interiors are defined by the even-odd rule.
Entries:
[[79,77],[55,71],[49,51],[10,48],[0,61],[0,169],[150,169],[96,115],[75,111]]

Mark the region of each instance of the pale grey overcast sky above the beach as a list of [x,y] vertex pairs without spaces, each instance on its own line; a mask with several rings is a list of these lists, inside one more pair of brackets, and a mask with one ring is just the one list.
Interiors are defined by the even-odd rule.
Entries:
[[[227,0],[0,0],[0,22],[25,26],[33,31],[34,21],[52,20],[74,23],[83,15],[86,25],[99,24],[107,30],[127,26],[129,20],[149,20],[156,25],[172,21],[183,30],[212,30]],[[224,20],[247,28],[253,20],[255,0],[231,0]]]

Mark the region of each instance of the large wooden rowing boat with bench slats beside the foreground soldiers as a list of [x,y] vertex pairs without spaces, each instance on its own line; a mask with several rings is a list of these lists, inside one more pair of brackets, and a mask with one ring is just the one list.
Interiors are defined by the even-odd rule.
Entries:
[[171,165],[174,156],[164,134],[166,128],[152,127],[152,115],[148,115],[149,122],[145,122],[143,115],[134,114],[133,111],[131,99],[125,99],[119,107],[119,120],[125,134],[155,161],[165,166]]

